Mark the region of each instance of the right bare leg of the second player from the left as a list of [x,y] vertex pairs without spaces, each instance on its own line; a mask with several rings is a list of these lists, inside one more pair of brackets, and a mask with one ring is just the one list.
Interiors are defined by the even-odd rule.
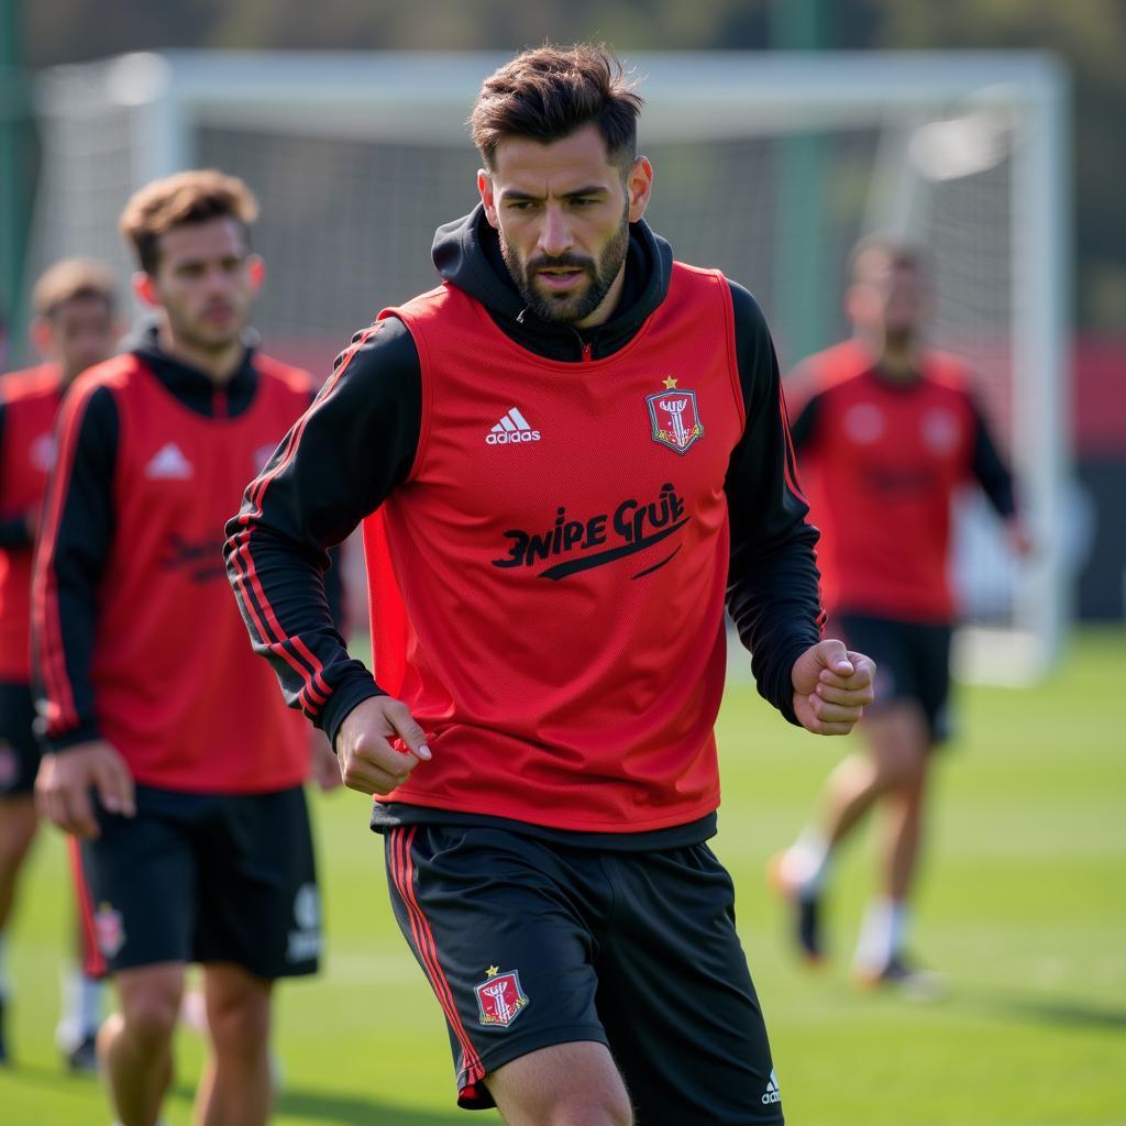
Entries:
[[196,1094],[196,1126],[265,1126],[271,1101],[271,982],[239,966],[204,966],[212,1043]]

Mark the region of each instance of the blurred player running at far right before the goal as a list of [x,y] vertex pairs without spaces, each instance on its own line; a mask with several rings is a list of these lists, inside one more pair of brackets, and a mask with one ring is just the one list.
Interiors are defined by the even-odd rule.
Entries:
[[879,672],[876,705],[859,726],[865,752],[833,770],[819,819],[771,861],[772,882],[793,904],[796,941],[820,958],[830,861],[878,806],[878,893],[854,966],[864,983],[919,989],[938,983],[911,964],[904,945],[931,751],[948,734],[954,491],[976,479],[1015,551],[1030,546],[965,366],[924,341],[928,309],[914,251],[883,239],[860,243],[846,295],[855,337],[787,381],[805,400],[792,434],[822,530],[829,619]]

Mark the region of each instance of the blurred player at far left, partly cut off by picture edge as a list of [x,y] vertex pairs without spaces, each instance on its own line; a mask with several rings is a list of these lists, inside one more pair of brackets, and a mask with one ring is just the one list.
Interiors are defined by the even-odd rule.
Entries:
[[[56,262],[36,283],[32,305],[32,339],[44,363],[0,379],[0,1062],[8,1056],[8,923],[36,829],[32,547],[63,392],[81,372],[113,355],[117,339],[114,278],[100,262]],[[78,1070],[93,1066],[101,1013],[100,957],[84,937],[79,928],[81,968],[64,980],[60,1025],[60,1047]]]

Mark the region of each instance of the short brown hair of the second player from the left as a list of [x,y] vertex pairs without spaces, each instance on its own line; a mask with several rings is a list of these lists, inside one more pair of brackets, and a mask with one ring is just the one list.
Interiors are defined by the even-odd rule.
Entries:
[[141,269],[155,274],[160,236],[173,226],[233,218],[249,236],[257,217],[258,200],[242,180],[215,169],[197,169],[146,184],[125,205],[118,225],[133,244]]

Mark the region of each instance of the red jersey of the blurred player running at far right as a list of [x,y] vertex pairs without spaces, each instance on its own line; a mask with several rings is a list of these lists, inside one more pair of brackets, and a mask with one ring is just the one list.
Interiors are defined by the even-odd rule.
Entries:
[[910,382],[846,341],[812,357],[794,421],[830,613],[912,622],[954,616],[950,502],[976,471],[981,415],[956,358],[928,352]]

